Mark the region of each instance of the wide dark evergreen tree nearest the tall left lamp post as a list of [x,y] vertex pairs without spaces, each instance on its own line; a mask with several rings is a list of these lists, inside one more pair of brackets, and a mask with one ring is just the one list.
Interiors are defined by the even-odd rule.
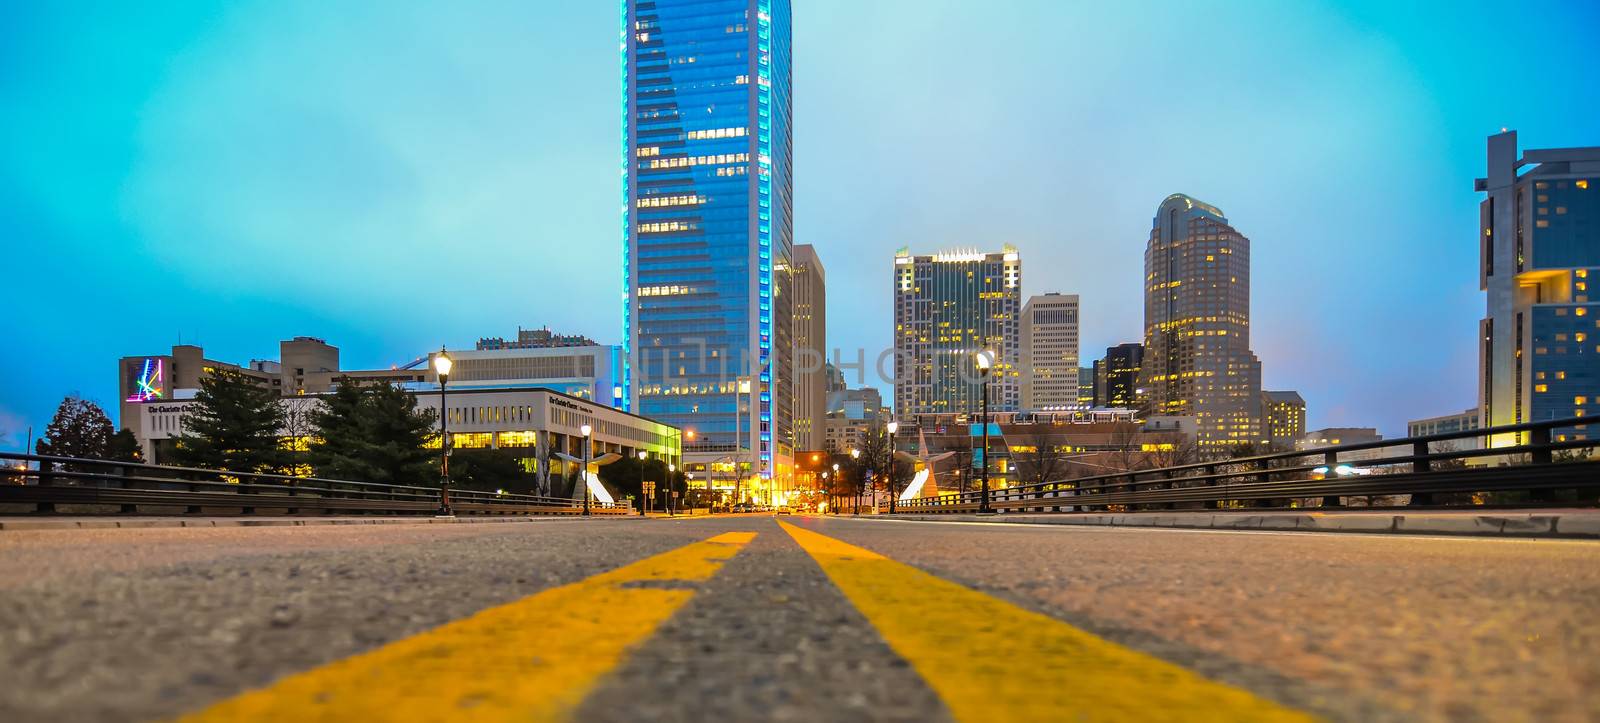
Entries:
[[416,397],[386,384],[341,384],[309,414],[317,429],[307,462],[317,477],[382,485],[437,483],[438,453],[427,443],[438,437],[432,409],[418,409]]

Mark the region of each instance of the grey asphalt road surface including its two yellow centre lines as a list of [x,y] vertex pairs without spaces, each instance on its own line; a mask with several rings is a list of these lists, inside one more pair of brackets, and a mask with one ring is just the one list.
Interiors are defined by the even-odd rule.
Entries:
[[1597,649],[1594,541],[814,517],[0,533],[18,721],[1600,720]]

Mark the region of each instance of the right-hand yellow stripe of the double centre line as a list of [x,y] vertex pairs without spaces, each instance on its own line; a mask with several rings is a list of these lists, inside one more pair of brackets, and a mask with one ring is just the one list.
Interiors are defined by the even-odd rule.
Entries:
[[1314,720],[872,550],[778,525],[955,720]]

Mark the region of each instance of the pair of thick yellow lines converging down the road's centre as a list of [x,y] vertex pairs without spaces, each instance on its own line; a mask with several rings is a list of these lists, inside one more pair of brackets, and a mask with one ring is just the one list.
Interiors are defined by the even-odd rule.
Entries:
[[[957,720],[1310,720],[872,550],[779,525]],[[566,720],[694,597],[672,582],[710,579],[754,537],[718,534],[544,590],[186,720]]]

